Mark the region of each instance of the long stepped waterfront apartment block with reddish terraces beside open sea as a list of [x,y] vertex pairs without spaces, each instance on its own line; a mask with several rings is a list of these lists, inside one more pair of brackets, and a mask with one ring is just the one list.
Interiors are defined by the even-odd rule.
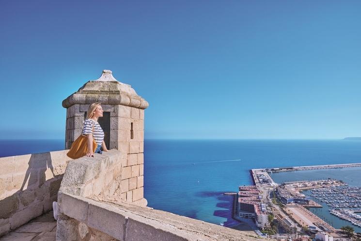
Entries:
[[269,225],[267,209],[257,186],[240,186],[237,195],[239,217],[254,218],[257,227],[267,227]]

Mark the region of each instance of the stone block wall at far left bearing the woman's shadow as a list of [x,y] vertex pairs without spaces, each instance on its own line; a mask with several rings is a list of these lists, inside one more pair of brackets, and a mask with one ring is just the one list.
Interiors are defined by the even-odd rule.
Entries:
[[67,150],[0,158],[0,236],[52,209]]

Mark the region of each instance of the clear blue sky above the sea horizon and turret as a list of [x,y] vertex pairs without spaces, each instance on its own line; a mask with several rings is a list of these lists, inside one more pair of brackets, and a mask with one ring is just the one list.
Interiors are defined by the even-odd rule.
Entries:
[[62,139],[103,69],[145,138],[361,136],[361,1],[1,1],[0,139]]

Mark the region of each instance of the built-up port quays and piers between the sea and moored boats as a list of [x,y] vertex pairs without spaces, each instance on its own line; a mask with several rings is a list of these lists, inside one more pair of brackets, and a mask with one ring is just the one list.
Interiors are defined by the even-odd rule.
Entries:
[[[288,232],[300,233],[305,228],[313,232],[336,232],[334,227],[305,208],[322,206],[310,200],[309,197],[301,192],[317,187],[345,185],[341,180],[329,178],[317,181],[303,180],[279,184],[270,177],[265,169],[252,169],[251,176],[253,182],[262,193],[262,199],[270,207],[280,225],[285,230],[288,230]],[[277,202],[279,203],[277,204]]]

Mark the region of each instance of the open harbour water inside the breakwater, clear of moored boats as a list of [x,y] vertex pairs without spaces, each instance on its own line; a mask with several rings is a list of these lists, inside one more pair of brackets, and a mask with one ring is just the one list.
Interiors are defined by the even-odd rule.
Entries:
[[[345,181],[351,187],[361,187],[361,167],[348,167],[348,168],[332,168],[332,169],[319,169],[319,170],[305,170],[305,171],[292,171],[283,173],[272,173],[272,179],[277,183],[285,181],[300,181],[300,180],[319,180],[319,179],[341,179]],[[311,191],[304,192],[305,195],[310,195]],[[329,207],[325,202],[311,197],[315,202],[322,205],[322,208],[310,208],[314,214],[322,218],[335,228],[341,228],[342,226],[352,226],[356,232],[361,232],[361,227],[353,225],[352,223],[342,220],[332,214]]]

